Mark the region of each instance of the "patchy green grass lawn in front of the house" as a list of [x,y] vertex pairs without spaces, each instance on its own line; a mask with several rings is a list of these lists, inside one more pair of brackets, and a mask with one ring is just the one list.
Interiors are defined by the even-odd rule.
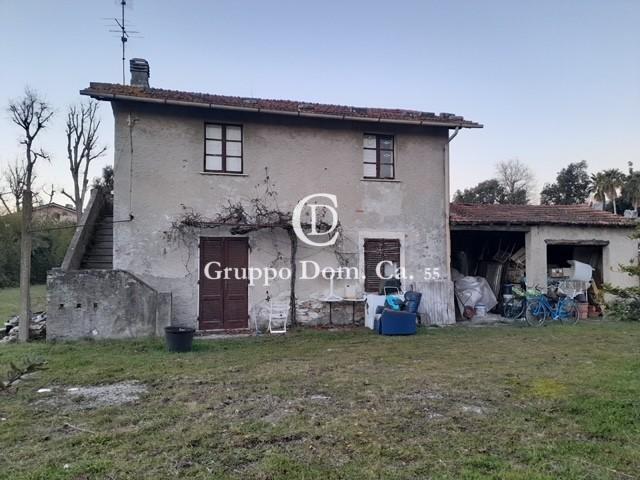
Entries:
[[[640,323],[0,347],[10,479],[630,479]],[[128,405],[66,387],[138,381]],[[37,393],[42,387],[51,393]],[[94,405],[95,407],[95,405]],[[6,419],[6,420],[5,420]]]

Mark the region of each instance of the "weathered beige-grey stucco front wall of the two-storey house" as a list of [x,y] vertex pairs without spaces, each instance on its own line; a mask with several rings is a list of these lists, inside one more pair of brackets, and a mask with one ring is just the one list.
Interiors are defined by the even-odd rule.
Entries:
[[[171,291],[176,324],[196,325],[198,247],[195,239],[168,242],[163,232],[183,213],[181,205],[213,217],[228,201],[248,200],[264,181],[265,167],[283,209],[292,209],[312,193],[337,195],[343,250],[350,265],[359,265],[362,232],[385,233],[401,239],[403,263],[407,274],[414,276],[407,284],[426,292],[430,287],[424,280],[425,268],[437,268],[447,277],[446,129],[302,121],[202,109],[160,110],[126,103],[114,105],[114,114],[114,220],[119,222],[114,224],[114,268],[131,271],[156,289]],[[243,125],[243,175],[203,173],[205,121]],[[396,180],[362,179],[365,132],[395,135]],[[131,221],[122,222],[130,215]],[[212,230],[202,235],[226,233]],[[284,234],[250,234],[249,244],[250,266],[288,265]],[[284,255],[280,260],[276,260],[278,253]],[[331,248],[301,245],[298,258],[313,259],[323,267],[338,266]],[[336,282],[339,292],[344,283]],[[300,320],[322,320],[317,299],[328,289],[324,279],[298,282]],[[267,290],[272,297],[284,299],[289,284],[249,288],[250,327],[255,321],[266,321]],[[350,317],[350,307],[343,310]],[[449,317],[431,321],[453,321]]]

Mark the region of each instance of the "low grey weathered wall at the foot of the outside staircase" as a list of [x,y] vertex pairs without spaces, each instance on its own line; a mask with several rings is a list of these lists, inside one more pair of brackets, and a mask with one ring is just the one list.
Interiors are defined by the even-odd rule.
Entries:
[[54,269],[47,276],[47,340],[162,335],[171,295],[128,272]]

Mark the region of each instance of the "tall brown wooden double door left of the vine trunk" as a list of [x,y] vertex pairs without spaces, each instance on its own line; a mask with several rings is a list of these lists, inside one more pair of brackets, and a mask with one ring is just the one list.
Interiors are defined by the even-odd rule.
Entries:
[[[204,275],[209,262],[219,262],[209,273],[215,277],[217,270],[247,268],[249,248],[246,238],[200,239],[200,330],[230,330],[248,327],[248,280],[237,280],[231,270],[228,279],[222,275],[212,280]],[[242,272],[240,272],[242,273]]]

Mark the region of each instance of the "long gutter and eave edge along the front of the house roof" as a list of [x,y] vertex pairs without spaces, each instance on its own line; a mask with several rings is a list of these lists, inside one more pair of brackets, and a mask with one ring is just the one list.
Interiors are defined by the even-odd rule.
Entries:
[[116,93],[104,93],[91,88],[85,88],[80,90],[80,95],[86,95],[96,100],[104,100],[108,102],[124,101],[124,102],[141,102],[141,103],[153,103],[160,105],[172,105],[179,107],[195,107],[195,108],[209,108],[212,110],[231,110],[240,112],[254,112],[265,113],[273,115],[288,115],[307,118],[327,118],[335,120],[348,120],[348,121],[362,121],[362,122],[375,122],[375,123],[399,123],[404,125],[417,125],[425,127],[445,127],[445,128],[483,128],[484,125],[475,122],[462,121],[462,122],[446,122],[438,120],[401,120],[401,119],[385,119],[384,117],[357,117],[353,115],[331,115],[326,113],[311,113],[301,111],[285,111],[285,110],[273,110],[263,109],[258,107],[240,107],[230,105],[219,105],[215,103],[206,102],[187,102],[180,100],[171,100],[167,98],[152,98],[152,97],[139,97],[132,95],[121,95]]

